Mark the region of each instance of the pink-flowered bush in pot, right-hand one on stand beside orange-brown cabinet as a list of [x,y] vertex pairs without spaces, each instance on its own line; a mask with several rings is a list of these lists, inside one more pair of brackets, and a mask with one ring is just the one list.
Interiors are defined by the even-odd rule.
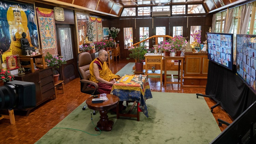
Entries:
[[187,43],[186,38],[182,36],[174,36],[171,39],[172,46],[176,50],[176,56],[181,56],[182,46]]

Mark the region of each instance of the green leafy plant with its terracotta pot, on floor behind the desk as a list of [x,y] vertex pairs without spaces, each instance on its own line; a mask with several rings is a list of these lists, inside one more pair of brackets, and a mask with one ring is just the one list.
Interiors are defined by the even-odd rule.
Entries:
[[136,59],[136,63],[135,63],[136,71],[143,71],[143,62],[141,62],[141,60],[144,59],[144,55],[146,54],[144,47],[131,46],[129,48],[129,51],[131,53],[129,54],[129,58],[127,59],[130,59],[130,58]]

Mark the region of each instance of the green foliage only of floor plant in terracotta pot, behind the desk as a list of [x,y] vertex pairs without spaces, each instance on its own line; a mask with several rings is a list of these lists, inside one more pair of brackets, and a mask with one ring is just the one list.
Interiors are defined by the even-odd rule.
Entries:
[[144,55],[146,54],[146,49],[144,49],[144,47],[140,46],[140,47],[133,47],[131,46],[129,48],[129,51],[131,52],[129,54],[129,58],[134,58],[136,59],[137,62],[141,62],[142,59],[144,59]]

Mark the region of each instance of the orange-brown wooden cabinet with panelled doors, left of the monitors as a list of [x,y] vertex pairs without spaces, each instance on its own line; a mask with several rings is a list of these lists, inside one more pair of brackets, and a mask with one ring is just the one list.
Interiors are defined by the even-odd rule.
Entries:
[[207,84],[207,53],[185,53],[183,87],[205,87]]

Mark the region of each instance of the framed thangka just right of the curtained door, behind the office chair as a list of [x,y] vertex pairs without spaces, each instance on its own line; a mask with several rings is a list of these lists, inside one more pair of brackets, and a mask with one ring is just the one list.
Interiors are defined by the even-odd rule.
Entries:
[[80,53],[80,49],[85,43],[87,34],[87,22],[89,21],[89,14],[75,12],[75,23],[76,23],[76,33],[77,33],[77,48]]

